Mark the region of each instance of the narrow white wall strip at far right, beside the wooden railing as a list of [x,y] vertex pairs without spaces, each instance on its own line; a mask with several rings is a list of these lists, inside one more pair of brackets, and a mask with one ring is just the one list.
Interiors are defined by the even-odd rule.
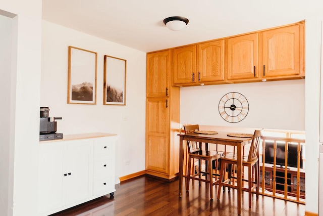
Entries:
[[318,212],[318,146],[321,18],[306,19],[306,210]]

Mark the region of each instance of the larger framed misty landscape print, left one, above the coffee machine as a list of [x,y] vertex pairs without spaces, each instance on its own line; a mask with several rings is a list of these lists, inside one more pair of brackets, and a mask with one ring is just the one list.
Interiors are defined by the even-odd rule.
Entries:
[[68,104],[96,104],[97,53],[69,46]]

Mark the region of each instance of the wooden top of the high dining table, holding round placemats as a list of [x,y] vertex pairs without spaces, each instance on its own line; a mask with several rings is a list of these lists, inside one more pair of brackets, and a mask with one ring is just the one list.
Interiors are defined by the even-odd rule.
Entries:
[[178,134],[178,136],[183,137],[183,140],[191,140],[205,143],[217,143],[224,145],[237,145],[241,143],[243,145],[249,144],[252,138],[242,138],[242,137],[229,137],[227,136],[231,132],[221,132],[218,134]]

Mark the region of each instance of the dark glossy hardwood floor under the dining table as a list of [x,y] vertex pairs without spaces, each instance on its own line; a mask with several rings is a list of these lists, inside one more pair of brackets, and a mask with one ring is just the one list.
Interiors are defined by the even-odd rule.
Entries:
[[[64,215],[237,215],[237,193],[227,190],[217,200],[217,189],[214,189],[214,200],[209,199],[206,184],[190,184],[189,192],[183,186],[182,198],[178,197],[178,181],[171,183],[138,177],[116,185],[114,199],[103,196],[76,207],[58,212]],[[241,215],[292,215],[303,216],[305,205],[275,199],[267,196],[253,195],[252,207],[248,208],[248,193],[242,197]]]

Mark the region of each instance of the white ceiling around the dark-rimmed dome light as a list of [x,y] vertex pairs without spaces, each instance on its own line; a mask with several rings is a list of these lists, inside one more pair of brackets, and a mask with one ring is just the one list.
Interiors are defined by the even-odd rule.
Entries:
[[[181,31],[163,20],[189,19]],[[42,18],[143,52],[323,16],[322,0],[42,0]]]

